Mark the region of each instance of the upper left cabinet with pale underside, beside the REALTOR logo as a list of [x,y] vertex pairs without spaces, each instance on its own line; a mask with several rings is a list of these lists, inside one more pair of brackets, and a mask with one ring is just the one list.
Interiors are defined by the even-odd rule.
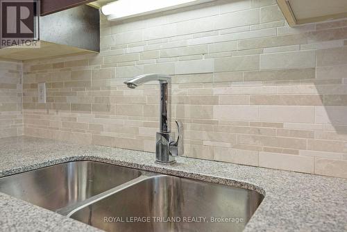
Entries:
[[37,38],[32,40],[40,45],[31,48],[23,44],[3,47],[0,49],[1,59],[34,60],[100,51],[98,9],[85,4],[67,6],[58,4],[58,1],[55,1],[56,8],[53,8],[44,5],[47,1],[41,2],[41,10],[44,11],[40,14],[38,24],[35,24]]

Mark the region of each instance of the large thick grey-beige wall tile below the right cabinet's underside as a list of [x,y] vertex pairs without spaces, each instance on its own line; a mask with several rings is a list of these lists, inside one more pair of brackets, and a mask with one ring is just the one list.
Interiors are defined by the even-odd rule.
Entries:
[[285,69],[315,66],[315,51],[291,51],[260,55],[260,69]]

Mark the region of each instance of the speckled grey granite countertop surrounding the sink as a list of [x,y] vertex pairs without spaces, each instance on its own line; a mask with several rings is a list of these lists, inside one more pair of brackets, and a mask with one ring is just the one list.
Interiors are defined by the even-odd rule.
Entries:
[[[248,188],[265,195],[244,231],[347,231],[347,179],[192,158],[157,165],[155,155],[42,138],[0,139],[0,177],[73,160]],[[100,231],[0,193],[0,231]]]

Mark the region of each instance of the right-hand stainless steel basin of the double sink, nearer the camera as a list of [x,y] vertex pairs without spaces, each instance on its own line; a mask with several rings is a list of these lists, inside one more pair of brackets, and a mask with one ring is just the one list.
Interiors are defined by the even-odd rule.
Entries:
[[105,231],[242,231],[262,199],[252,190],[160,175],[70,217]]

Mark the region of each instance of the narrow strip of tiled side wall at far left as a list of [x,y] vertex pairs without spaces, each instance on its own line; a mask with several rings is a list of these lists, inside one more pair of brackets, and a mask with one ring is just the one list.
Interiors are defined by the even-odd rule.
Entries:
[[0,62],[0,138],[23,135],[22,63]]

